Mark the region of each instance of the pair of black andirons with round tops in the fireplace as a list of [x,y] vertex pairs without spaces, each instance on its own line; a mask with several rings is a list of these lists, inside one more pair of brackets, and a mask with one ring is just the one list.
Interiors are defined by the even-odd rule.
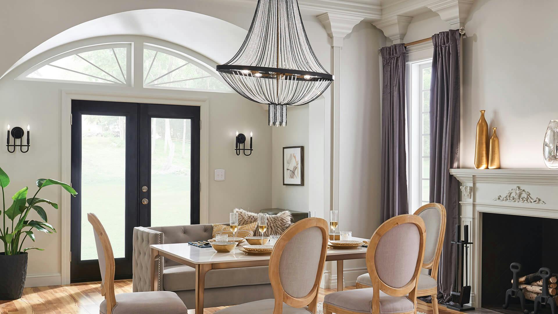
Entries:
[[[511,298],[519,298],[519,303],[521,303],[521,310],[523,313],[528,314],[529,311],[526,309],[525,306],[525,294],[521,289],[519,289],[519,278],[518,273],[521,270],[521,264],[519,263],[512,263],[509,265],[509,269],[512,270],[513,273],[513,282],[512,287],[506,291],[506,303],[502,306],[504,310],[508,308],[509,301]],[[531,274],[531,276],[536,274]],[[552,314],[556,313],[556,299],[555,297],[551,296],[549,293],[549,278],[551,277],[552,273],[550,269],[543,267],[538,270],[538,277],[531,277],[531,279],[541,280],[542,279],[542,287],[541,287],[541,294],[535,297],[535,305],[531,314],[538,314],[541,308],[545,308],[546,306],[550,307]],[[526,276],[527,277],[527,276]],[[523,278],[523,277],[522,277]],[[528,280],[531,281],[531,280]]]

